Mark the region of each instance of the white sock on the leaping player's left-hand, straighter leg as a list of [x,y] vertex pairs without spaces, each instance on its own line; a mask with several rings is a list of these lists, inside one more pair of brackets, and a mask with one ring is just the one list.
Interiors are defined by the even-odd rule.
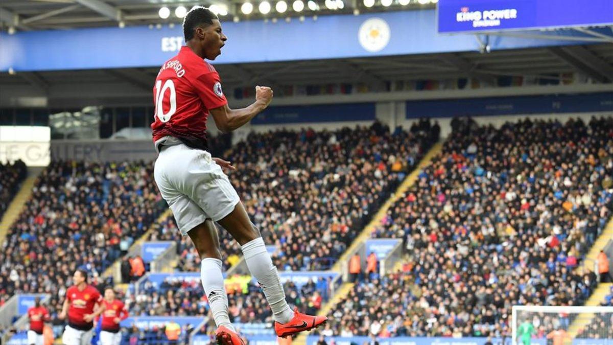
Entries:
[[217,327],[226,326],[235,331],[228,316],[228,297],[224,286],[224,276],[221,274],[221,260],[204,258],[200,263],[200,281],[207,294],[208,306],[213,313]]

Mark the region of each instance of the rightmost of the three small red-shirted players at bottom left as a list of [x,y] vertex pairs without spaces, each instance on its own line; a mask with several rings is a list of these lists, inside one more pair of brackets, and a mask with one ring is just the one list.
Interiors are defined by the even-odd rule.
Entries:
[[119,345],[121,332],[119,323],[128,318],[128,309],[123,302],[115,299],[115,291],[112,287],[104,290],[104,312],[101,314],[102,331],[100,343],[102,345]]

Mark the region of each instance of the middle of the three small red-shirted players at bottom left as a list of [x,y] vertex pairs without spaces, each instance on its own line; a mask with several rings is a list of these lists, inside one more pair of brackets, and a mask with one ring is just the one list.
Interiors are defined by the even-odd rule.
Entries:
[[102,296],[98,290],[87,284],[87,273],[77,269],[72,275],[73,286],[66,290],[60,319],[68,316],[68,325],[62,335],[64,345],[89,345],[93,336],[93,320],[104,311]]

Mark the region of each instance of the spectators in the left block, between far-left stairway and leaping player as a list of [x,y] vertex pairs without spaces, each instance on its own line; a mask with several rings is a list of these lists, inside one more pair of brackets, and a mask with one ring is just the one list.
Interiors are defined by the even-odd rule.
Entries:
[[166,209],[152,169],[143,162],[52,162],[2,244],[0,299],[44,292],[61,300],[77,268],[99,280]]

